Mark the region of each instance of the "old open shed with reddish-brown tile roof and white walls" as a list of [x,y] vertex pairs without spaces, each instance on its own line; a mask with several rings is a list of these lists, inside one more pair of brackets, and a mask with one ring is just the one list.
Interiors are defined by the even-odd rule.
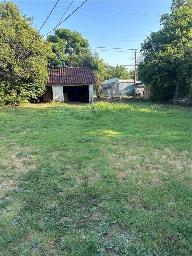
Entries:
[[43,101],[93,102],[93,84],[96,83],[90,67],[50,68]]

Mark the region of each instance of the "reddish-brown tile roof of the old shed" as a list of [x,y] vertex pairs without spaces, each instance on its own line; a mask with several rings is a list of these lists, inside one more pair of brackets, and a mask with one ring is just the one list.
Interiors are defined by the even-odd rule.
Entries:
[[94,84],[93,70],[90,67],[50,68],[47,84]]

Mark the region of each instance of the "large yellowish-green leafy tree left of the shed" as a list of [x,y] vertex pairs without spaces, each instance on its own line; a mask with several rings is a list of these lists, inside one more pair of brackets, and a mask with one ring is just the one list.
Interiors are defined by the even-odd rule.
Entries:
[[0,101],[19,104],[35,101],[45,91],[47,63],[52,56],[50,43],[31,27],[32,19],[22,16],[12,2],[0,4]]

